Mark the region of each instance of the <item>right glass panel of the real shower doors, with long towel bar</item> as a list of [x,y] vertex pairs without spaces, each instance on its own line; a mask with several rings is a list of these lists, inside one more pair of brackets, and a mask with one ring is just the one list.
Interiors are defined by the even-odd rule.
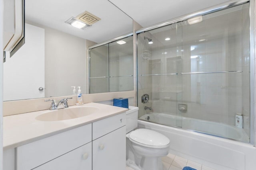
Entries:
[[[249,3],[184,21],[182,103],[190,119],[183,128],[249,142],[249,36]],[[235,127],[238,114],[243,128]]]

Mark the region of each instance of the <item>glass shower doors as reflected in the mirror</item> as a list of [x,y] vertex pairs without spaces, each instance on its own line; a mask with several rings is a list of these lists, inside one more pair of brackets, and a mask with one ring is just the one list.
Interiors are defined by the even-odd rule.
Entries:
[[89,93],[133,90],[133,36],[89,49]]

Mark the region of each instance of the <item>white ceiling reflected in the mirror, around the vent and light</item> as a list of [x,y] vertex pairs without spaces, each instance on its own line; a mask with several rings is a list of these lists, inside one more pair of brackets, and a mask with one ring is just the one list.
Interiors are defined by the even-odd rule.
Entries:
[[[70,17],[88,11],[101,20],[86,30],[65,23]],[[108,0],[26,0],[25,19],[100,43],[132,32],[132,18]]]

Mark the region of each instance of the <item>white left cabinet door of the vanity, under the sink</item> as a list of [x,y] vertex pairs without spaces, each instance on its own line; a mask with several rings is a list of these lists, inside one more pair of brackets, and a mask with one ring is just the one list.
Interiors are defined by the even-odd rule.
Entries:
[[92,170],[92,142],[42,164],[34,170]]

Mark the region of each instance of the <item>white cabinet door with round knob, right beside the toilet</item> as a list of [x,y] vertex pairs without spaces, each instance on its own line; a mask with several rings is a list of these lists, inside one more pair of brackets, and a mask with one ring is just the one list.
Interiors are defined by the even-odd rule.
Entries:
[[93,170],[125,170],[126,126],[92,141]]

